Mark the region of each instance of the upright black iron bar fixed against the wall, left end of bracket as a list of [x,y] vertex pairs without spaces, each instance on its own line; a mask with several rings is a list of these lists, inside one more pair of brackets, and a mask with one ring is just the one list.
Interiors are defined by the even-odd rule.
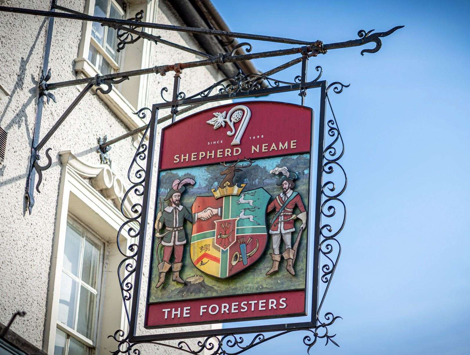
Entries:
[[[54,13],[55,0],[51,1],[51,11]],[[47,69],[49,67],[49,54],[51,51],[52,44],[52,32],[54,30],[54,17],[49,18],[47,24],[47,35],[46,35],[46,46],[44,47],[44,61],[42,63],[42,75],[44,79],[47,75]],[[39,141],[39,131],[41,130],[41,119],[42,119],[42,108],[44,107],[44,100],[41,99],[41,93],[38,94],[38,106],[36,110],[36,119],[34,121],[34,128],[31,141],[31,156],[28,169],[28,176],[26,177],[26,186],[24,188],[24,200],[28,206],[29,213],[31,214],[32,207],[34,205],[34,180],[36,178],[36,170],[33,168],[34,162],[36,161],[36,146]]]

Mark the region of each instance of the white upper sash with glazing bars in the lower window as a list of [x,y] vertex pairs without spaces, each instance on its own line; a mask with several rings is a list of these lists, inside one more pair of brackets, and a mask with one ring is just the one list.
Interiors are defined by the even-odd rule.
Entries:
[[[78,218],[75,217],[73,215],[73,213],[70,213],[70,212],[69,212],[68,217],[67,217],[67,224],[69,224],[69,223],[72,224],[76,229],[85,232],[85,236],[86,236],[85,237],[85,236],[82,235],[83,240],[82,240],[82,245],[80,247],[80,257],[79,257],[79,266],[80,266],[80,268],[79,268],[78,276],[73,275],[69,270],[63,268],[63,266],[62,266],[62,272],[64,272],[67,276],[71,277],[73,280],[75,280],[78,283],[77,314],[78,314],[78,312],[80,312],[79,305],[80,305],[80,292],[81,292],[81,286],[82,285],[96,296],[96,301],[97,302],[96,302],[96,307],[95,307],[95,310],[94,310],[94,315],[95,315],[94,318],[95,319],[94,319],[92,339],[86,338],[84,335],[80,334],[78,331],[70,328],[69,326],[67,326],[66,324],[62,323],[59,320],[57,320],[57,328],[64,331],[65,333],[68,333],[69,335],[73,336],[75,339],[79,340],[80,342],[85,344],[87,347],[95,347],[96,346],[96,338],[97,338],[97,334],[98,334],[97,329],[98,329],[99,321],[100,321],[99,311],[100,311],[100,308],[101,308],[100,307],[101,302],[102,302],[101,295],[102,295],[102,290],[103,290],[103,287],[104,287],[102,276],[103,276],[103,271],[104,271],[104,255],[106,255],[105,249],[106,249],[107,245],[101,239],[96,237],[96,235],[98,234],[97,232],[92,231],[90,228],[86,227],[86,225],[84,223],[79,221]],[[90,285],[86,284],[81,279],[82,271],[83,271],[82,270],[83,251],[84,251],[84,244],[85,244],[85,239],[86,238],[91,239],[94,243],[101,245],[101,248],[100,248],[100,266],[99,266],[99,269],[98,269],[98,276],[97,276],[98,277],[97,280],[99,280],[99,283],[98,283],[98,288],[96,290],[94,288],[92,288]],[[75,319],[74,328],[77,328],[77,323],[78,323],[78,315],[76,316],[76,319]]]

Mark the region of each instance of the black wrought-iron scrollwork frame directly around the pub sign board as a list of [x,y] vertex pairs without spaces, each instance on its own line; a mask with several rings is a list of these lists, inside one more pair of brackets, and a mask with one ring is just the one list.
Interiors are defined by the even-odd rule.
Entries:
[[[343,192],[345,191],[347,185],[347,177],[344,173],[343,168],[338,163],[338,160],[342,157],[344,152],[344,146],[341,134],[339,129],[337,128],[336,118],[332,118],[327,120],[326,109],[327,109],[327,101],[329,102],[328,92],[330,88],[333,88],[335,93],[341,93],[344,87],[348,87],[349,85],[343,85],[340,82],[334,82],[331,85],[325,80],[319,80],[321,76],[321,68],[317,67],[317,71],[320,71],[320,74],[316,79],[310,82],[304,82],[304,84],[300,83],[287,83],[284,82],[286,85],[271,87],[268,89],[254,89],[249,90],[246,92],[235,93],[235,94],[220,94],[220,95],[213,95],[206,98],[203,98],[205,102],[214,102],[214,101],[223,101],[229,100],[238,97],[255,97],[260,95],[269,95],[275,94],[280,92],[287,92],[287,91],[300,91],[301,87],[307,89],[311,88],[319,88],[320,93],[320,115],[319,115],[319,127],[318,127],[318,150],[317,150],[317,165],[316,167],[311,167],[311,171],[316,171],[316,183],[315,183],[315,212],[314,212],[314,240],[313,240],[313,276],[312,280],[310,280],[310,284],[312,285],[312,304],[310,314],[310,320],[307,322],[297,322],[297,323],[280,323],[280,324],[273,324],[273,325],[264,325],[264,326],[248,326],[248,327],[235,327],[235,328],[224,328],[220,330],[205,330],[205,331],[184,331],[184,332],[175,332],[175,333],[165,333],[165,334],[152,334],[152,335],[137,335],[137,309],[139,304],[139,296],[140,296],[140,289],[141,289],[141,275],[143,271],[143,263],[144,263],[144,247],[145,247],[145,238],[146,238],[146,229],[148,225],[153,225],[154,220],[149,215],[149,205],[151,204],[151,191],[152,187],[150,185],[150,181],[152,180],[152,167],[154,164],[154,152],[156,151],[156,134],[157,134],[157,124],[158,121],[158,110],[169,108],[169,107],[178,107],[179,105],[185,104],[194,104],[201,102],[201,97],[199,95],[193,95],[191,99],[185,99],[184,93],[179,93],[181,100],[176,101],[168,101],[160,104],[154,104],[151,110],[151,118],[150,124],[146,130],[146,135],[149,134],[149,141],[145,142],[144,138],[142,138],[141,145],[139,150],[137,150],[133,164],[138,164],[139,168],[135,170],[135,177],[138,178],[134,180],[133,186],[131,186],[126,195],[135,191],[135,189],[139,189],[139,196],[142,197],[142,202],[137,207],[136,210],[139,211],[139,214],[135,217],[128,218],[120,232],[128,224],[138,224],[140,226],[139,230],[132,230],[131,235],[134,237],[139,237],[138,243],[133,248],[133,254],[131,256],[126,255],[124,263],[122,263],[121,267],[127,271],[127,276],[125,276],[121,281],[121,289],[123,290],[123,298],[126,301],[132,300],[131,312],[130,312],[130,319],[129,319],[129,333],[127,334],[126,339],[119,340],[119,336],[123,334],[123,330],[119,330],[117,332],[117,337],[115,338],[117,341],[120,341],[120,344],[125,345],[128,349],[135,347],[135,345],[140,343],[147,343],[152,342],[155,343],[156,341],[162,340],[169,340],[169,339],[187,339],[187,338],[200,338],[200,337],[207,337],[204,342],[200,343],[200,348],[196,350],[192,350],[186,342],[181,342],[178,348],[187,347],[189,352],[191,353],[199,353],[204,348],[207,350],[212,350],[211,343],[213,343],[216,339],[216,343],[218,344],[219,350],[221,351],[222,348],[227,347],[227,341],[231,340],[230,344],[238,348],[237,352],[245,351],[249,347],[253,347],[258,345],[267,339],[271,339],[273,337],[277,337],[279,335],[291,332],[291,331],[310,331],[311,334],[305,336],[304,342],[310,348],[313,344],[317,341],[317,339],[325,338],[328,341],[332,341],[334,344],[336,342],[331,339],[334,335],[329,335],[328,327],[329,325],[333,324],[337,318],[333,316],[332,313],[326,313],[324,315],[325,321],[320,320],[320,311],[323,305],[323,301],[326,296],[326,292],[328,291],[329,284],[331,282],[331,277],[336,269],[337,260],[339,259],[340,255],[340,244],[337,241],[336,237],[341,232],[344,227],[345,223],[345,206],[341,199],[339,198]],[[303,73],[304,74],[304,73]],[[304,75],[301,75],[303,77]],[[270,78],[266,78],[272,80]],[[175,81],[178,80],[175,78]],[[228,81],[230,81],[228,79]],[[176,85],[176,83],[175,83]],[[243,84],[240,85],[243,87]],[[211,89],[208,88],[208,89]],[[206,89],[207,90],[207,89]],[[203,90],[203,93],[206,92]],[[223,92],[224,90],[222,90]],[[175,91],[177,92],[177,91]],[[238,94],[238,95],[237,95]],[[199,97],[196,97],[199,96]],[[149,110],[149,109],[148,109]],[[325,134],[328,131],[329,137],[331,137],[331,141],[329,144],[325,144]],[[313,139],[316,139],[313,138]],[[339,143],[339,147],[337,146]],[[145,160],[145,169],[144,166],[139,164],[139,160]],[[331,174],[335,170],[334,168],[337,167],[337,170],[342,171],[344,173],[344,181],[340,182],[342,187],[339,189],[337,188],[337,184],[333,181],[326,181],[324,182],[324,175]],[[133,167],[129,169],[129,173]],[[130,177],[132,180],[133,177]],[[333,230],[331,225],[328,222],[322,222],[322,216],[324,218],[333,217],[337,213],[337,206],[333,203],[339,202],[344,209],[341,211],[343,214],[343,220],[339,223],[339,227],[337,230]],[[339,212],[339,211],[338,211]],[[155,218],[155,216],[153,216]],[[149,223],[150,222],[150,223]],[[119,243],[119,240],[118,240]],[[123,254],[124,255],[124,254]],[[320,259],[321,255],[326,256],[327,261],[321,267],[322,275],[320,276]],[[332,256],[335,255],[335,258]],[[130,281],[133,277],[133,282]],[[326,284],[324,293],[319,298],[320,295],[320,282],[322,280],[323,283]],[[132,283],[132,284],[130,284]],[[131,290],[133,290],[131,292]],[[310,291],[310,290],[308,290]],[[261,331],[281,331],[281,333],[275,334],[271,337],[266,338],[264,334],[260,333]],[[243,338],[237,338],[236,334],[243,334],[243,333],[257,333],[255,338],[251,341],[250,346],[243,345]],[[228,339],[229,338],[229,339]],[[165,343],[158,343],[164,346],[170,346]],[[219,351],[218,350],[218,351]],[[227,351],[227,350],[225,350]],[[228,352],[229,353],[229,352]],[[236,353],[236,352],[235,352]],[[217,352],[214,352],[217,354]]]

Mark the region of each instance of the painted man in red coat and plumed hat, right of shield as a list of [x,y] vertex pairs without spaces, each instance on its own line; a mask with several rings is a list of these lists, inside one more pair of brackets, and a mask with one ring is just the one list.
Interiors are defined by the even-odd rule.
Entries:
[[[277,182],[278,186],[282,186],[282,193],[277,195],[274,200],[267,207],[267,213],[275,210],[274,218],[271,220],[271,228],[269,234],[273,239],[273,252],[271,259],[273,266],[266,272],[266,275],[271,275],[273,272],[278,271],[279,262],[281,261],[280,245],[281,237],[284,241],[285,250],[282,253],[284,259],[287,260],[286,269],[291,275],[295,275],[293,267],[294,250],[291,247],[292,232],[295,231],[294,219],[298,218],[302,221],[300,228],[305,229],[307,221],[307,212],[305,211],[304,203],[297,191],[292,190],[295,187],[294,180],[297,179],[297,174],[289,172],[285,166],[276,167],[270,172],[271,174],[282,174],[281,179]],[[300,213],[296,216],[294,208],[297,206]]]

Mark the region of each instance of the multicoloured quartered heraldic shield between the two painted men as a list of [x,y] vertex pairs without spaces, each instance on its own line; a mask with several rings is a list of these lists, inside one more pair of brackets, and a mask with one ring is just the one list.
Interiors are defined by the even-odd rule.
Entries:
[[193,213],[211,208],[213,217],[197,218],[191,234],[191,260],[206,274],[227,278],[248,268],[267,244],[266,207],[270,195],[263,189],[230,196],[198,196]]

